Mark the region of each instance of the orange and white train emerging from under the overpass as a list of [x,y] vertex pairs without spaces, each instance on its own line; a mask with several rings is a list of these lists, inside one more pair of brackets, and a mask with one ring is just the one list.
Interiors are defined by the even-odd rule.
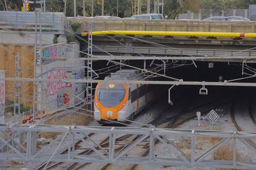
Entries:
[[[119,70],[105,80],[145,80],[139,70]],[[94,118],[124,122],[153,102],[155,92],[148,84],[98,83],[95,89]]]

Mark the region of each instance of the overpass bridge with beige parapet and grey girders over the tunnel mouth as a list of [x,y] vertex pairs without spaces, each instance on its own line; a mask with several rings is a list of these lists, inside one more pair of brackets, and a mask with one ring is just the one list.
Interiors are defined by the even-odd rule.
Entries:
[[[77,33],[92,31],[184,31],[216,33],[256,33],[256,22],[216,22],[202,20],[106,20],[85,17],[67,18],[66,28],[72,23],[80,23]],[[67,29],[68,30],[68,29]],[[86,39],[86,38],[85,38]],[[81,42],[84,51],[88,45]],[[252,36],[157,36],[97,33],[93,35],[93,54],[132,56],[196,56],[196,57],[241,57],[252,59],[255,56],[256,39]],[[207,61],[209,61],[207,59]],[[216,60],[214,60],[216,61]],[[227,61],[227,60],[223,60]]]

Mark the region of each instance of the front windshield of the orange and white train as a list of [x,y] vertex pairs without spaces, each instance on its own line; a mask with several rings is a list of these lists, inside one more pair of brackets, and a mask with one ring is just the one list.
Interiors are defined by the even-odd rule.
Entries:
[[[108,88],[104,87],[105,84],[101,85],[97,92],[97,97],[101,105],[105,107],[114,107],[119,105],[120,102],[124,99],[126,90],[122,84],[119,86]],[[106,86],[106,85],[105,85]]]

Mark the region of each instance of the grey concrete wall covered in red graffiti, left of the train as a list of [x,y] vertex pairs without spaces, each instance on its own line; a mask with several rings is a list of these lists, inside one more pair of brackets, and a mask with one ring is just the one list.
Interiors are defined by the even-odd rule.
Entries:
[[[62,47],[63,46],[61,45],[59,47],[51,46],[48,49],[49,51],[62,51]],[[64,49],[66,49],[64,54],[68,59],[79,58],[79,44],[66,44],[64,47]],[[58,52],[50,52],[50,54],[58,54]],[[55,61],[51,63],[45,63],[46,64],[43,65],[43,73],[46,74],[43,75],[43,78],[80,79],[84,76],[84,61]],[[40,67],[38,68],[38,71],[39,70]],[[82,102],[84,99],[83,87],[84,84],[80,83],[43,83],[43,101],[41,106],[42,110],[54,111],[62,107],[64,104],[67,106],[72,106]],[[80,99],[75,99],[76,96],[79,96]]]

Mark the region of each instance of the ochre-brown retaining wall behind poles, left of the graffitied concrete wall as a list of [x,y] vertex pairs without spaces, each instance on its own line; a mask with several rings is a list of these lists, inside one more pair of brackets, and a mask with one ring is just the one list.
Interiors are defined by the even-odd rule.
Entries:
[[[14,77],[15,73],[15,52],[20,54],[20,77],[30,78],[33,76],[33,46],[13,46],[0,44],[0,70],[6,71],[6,77]],[[32,106],[33,83],[22,83],[20,89],[20,103],[25,106]],[[14,82],[6,81],[6,100],[14,100]],[[7,105],[6,105],[7,107]]]

